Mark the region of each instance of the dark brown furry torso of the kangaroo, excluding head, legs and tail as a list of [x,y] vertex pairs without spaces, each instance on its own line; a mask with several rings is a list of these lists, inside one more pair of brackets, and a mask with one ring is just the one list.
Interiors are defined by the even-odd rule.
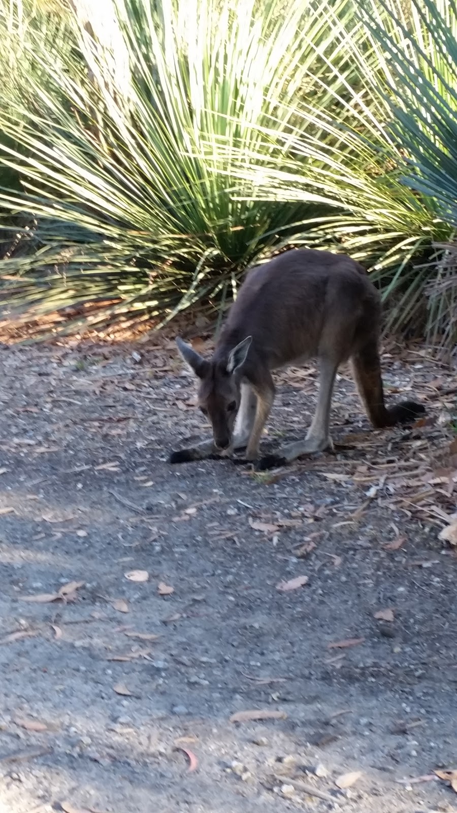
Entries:
[[[364,268],[343,254],[296,249],[246,276],[218,345],[252,336],[255,353],[280,367],[344,341],[348,358],[360,330],[377,330],[380,304]],[[363,327],[364,326],[364,327]]]

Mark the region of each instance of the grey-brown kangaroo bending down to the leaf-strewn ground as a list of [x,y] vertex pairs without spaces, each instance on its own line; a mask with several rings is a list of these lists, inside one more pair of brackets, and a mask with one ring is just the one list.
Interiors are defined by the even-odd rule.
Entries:
[[213,439],[172,452],[170,463],[227,455],[259,442],[275,397],[272,370],[318,359],[320,387],[306,439],[260,461],[281,465],[332,446],[329,415],[339,365],[350,359],[359,395],[373,426],[412,421],[424,407],[411,401],[386,408],[379,337],[381,299],[365,269],[344,254],[294,249],[246,276],[212,359],[180,338],[178,349],[200,380],[198,403],[211,420]]

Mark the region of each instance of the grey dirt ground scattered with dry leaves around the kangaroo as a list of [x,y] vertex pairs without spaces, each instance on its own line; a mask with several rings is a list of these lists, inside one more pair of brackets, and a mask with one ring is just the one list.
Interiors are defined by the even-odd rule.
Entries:
[[[172,467],[206,430],[155,344],[0,351],[0,810],[457,811],[455,376],[385,355],[414,428],[342,371],[336,454]],[[281,376],[267,449],[315,398]]]

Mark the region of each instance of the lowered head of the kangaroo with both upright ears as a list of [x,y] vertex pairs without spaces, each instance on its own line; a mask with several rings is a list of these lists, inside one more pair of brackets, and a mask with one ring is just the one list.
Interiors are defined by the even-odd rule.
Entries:
[[251,341],[251,336],[240,341],[230,350],[227,361],[222,362],[203,359],[185,341],[176,339],[181,356],[200,380],[198,406],[211,420],[214,444],[219,451],[229,450],[232,446],[233,427],[240,406],[241,368]]

